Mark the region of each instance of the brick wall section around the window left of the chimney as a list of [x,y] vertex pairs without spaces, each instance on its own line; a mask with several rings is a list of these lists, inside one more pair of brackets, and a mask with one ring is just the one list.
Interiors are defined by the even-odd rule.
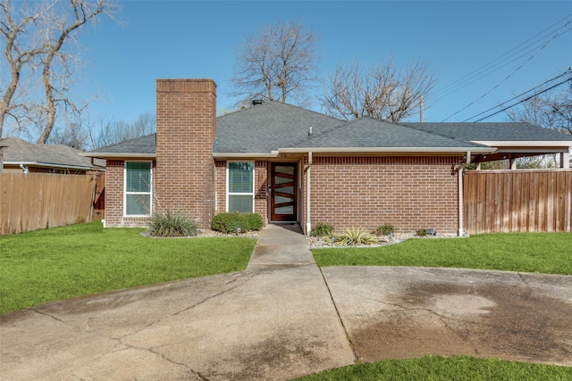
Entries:
[[[108,160],[105,167],[105,227],[147,227],[147,217],[123,217],[123,174],[125,162]],[[155,180],[155,162],[153,162],[152,178]],[[155,189],[152,190],[155,192]],[[152,208],[155,210],[155,195],[152,193]]]

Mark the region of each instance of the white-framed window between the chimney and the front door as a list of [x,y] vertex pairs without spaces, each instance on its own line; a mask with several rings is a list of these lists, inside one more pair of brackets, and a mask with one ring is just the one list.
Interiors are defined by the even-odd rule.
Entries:
[[228,162],[226,211],[254,211],[254,162]]

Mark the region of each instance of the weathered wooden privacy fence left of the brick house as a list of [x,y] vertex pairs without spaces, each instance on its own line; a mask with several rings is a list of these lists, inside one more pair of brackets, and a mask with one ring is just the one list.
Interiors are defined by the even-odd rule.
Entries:
[[0,236],[92,218],[93,175],[0,173]]

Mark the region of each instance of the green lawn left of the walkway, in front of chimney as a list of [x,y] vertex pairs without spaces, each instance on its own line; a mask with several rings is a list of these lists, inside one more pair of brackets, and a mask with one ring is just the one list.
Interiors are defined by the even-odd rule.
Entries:
[[98,221],[0,237],[0,313],[132,286],[246,269],[256,239],[140,236]]

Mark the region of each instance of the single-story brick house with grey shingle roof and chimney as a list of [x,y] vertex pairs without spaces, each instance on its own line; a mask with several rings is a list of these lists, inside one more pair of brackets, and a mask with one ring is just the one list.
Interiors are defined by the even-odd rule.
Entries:
[[266,223],[384,223],[462,234],[470,162],[558,153],[572,137],[527,123],[388,123],[276,102],[216,117],[212,79],[157,79],[156,134],[84,153],[106,160],[105,227],[181,211],[255,211]]

